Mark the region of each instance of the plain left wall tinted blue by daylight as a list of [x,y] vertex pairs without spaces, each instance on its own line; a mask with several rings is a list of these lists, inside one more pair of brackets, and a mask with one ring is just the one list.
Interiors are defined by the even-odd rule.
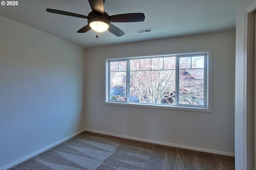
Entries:
[[84,129],[84,48],[0,16],[0,169]]

